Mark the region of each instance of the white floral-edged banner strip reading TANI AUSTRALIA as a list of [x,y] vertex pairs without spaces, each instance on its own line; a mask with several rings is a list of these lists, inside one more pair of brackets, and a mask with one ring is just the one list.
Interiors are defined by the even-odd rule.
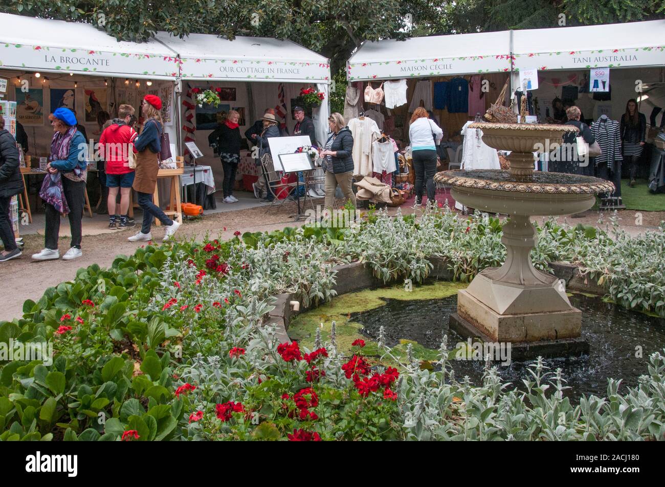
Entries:
[[539,66],[546,69],[628,68],[630,66],[662,66],[665,46],[639,49],[571,50],[566,52],[532,52],[515,54],[515,70]]

